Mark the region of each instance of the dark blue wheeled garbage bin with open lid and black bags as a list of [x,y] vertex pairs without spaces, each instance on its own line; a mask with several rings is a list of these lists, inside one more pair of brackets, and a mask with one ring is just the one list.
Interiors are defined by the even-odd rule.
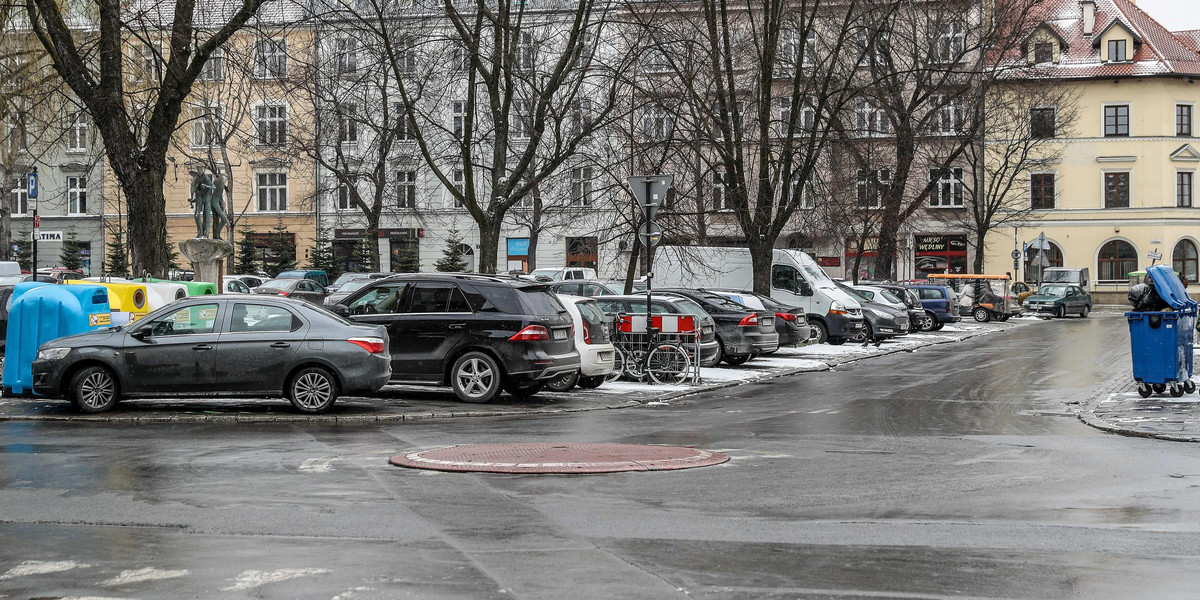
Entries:
[[1126,313],[1133,378],[1142,397],[1163,392],[1168,386],[1171,396],[1180,397],[1195,391],[1192,383],[1192,341],[1198,305],[1188,296],[1183,282],[1171,268],[1151,266],[1146,269],[1146,276],[1171,310]]

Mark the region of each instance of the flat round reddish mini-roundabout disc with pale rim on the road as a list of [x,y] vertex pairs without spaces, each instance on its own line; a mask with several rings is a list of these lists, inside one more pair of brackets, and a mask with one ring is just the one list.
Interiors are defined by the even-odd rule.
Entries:
[[617,473],[708,467],[728,461],[695,448],[635,444],[467,444],[398,454],[400,467],[484,473]]

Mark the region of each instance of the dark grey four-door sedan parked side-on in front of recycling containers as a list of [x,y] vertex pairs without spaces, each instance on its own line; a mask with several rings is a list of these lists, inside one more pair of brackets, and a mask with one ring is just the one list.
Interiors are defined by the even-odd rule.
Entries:
[[324,413],[391,377],[388,331],[283,298],[179,300],[124,328],[60,337],[34,360],[34,391],[101,413],[122,396],[282,395]]

